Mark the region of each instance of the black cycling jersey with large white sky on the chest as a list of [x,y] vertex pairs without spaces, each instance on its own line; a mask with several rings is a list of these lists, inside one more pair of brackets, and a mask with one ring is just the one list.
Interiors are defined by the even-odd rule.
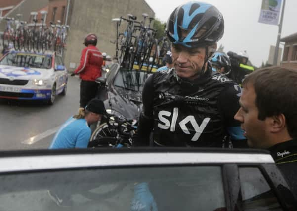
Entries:
[[195,84],[181,82],[174,68],[147,79],[136,146],[149,145],[151,131],[159,146],[221,147],[227,135],[235,147],[245,143],[240,123],[234,119],[241,88],[208,67]]

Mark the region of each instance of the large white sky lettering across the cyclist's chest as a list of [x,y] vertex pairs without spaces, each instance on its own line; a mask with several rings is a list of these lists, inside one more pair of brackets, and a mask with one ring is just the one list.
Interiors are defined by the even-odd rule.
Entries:
[[[172,119],[170,122],[170,117],[172,115]],[[158,118],[161,123],[158,123],[158,127],[161,129],[170,129],[171,132],[175,132],[177,118],[178,118],[178,108],[173,109],[172,112],[169,111],[159,111]],[[182,129],[185,134],[190,134],[189,129],[187,128],[186,124],[191,123],[192,127],[195,130],[195,134],[192,137],[191,141],[197,141],[201,134],[203,133],[205,127],[210,122],[211,118],[204,118],[201,125],[199,126],[197,121],[195,120],[193,115],[186,116],[183,120],[181,120],[178,125]]]

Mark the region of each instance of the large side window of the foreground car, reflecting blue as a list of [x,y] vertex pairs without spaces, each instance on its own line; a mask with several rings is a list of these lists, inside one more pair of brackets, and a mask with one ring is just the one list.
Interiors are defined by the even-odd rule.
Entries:
[[[148,193],[159,211],[225,207],[220,166],[57,170],[0,175],[0,180],[0,210],[59,210],[48,190],[69,199],[73,211],[130,211],[131,202],[139,197],[145,202]],[[139,187],[147,188],[138,192]]]

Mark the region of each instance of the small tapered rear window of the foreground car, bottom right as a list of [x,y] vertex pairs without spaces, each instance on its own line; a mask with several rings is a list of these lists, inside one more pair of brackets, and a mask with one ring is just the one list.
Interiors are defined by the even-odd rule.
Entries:
[[244,211],[283,211],[260,169],[241,167],[239,176]]

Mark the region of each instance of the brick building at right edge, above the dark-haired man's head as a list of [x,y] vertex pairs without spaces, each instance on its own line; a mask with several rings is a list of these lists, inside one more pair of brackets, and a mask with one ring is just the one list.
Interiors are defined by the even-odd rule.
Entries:
[[282,67],[297,69],[297,33],[281,38],[285,42]]

